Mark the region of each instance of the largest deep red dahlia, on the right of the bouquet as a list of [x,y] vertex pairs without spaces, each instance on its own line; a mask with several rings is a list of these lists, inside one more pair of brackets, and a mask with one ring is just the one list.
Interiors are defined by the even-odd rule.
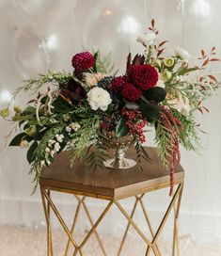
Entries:
[[153,88],[158,81],[158,73],[150,65],[134,65],[129,74],[134,84],[141,89]]

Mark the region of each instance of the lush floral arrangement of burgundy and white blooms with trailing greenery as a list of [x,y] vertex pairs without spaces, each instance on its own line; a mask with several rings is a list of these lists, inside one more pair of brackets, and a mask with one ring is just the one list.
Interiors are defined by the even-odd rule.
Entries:
[[[87,154],[90,167],[103,168],[109,149],[125,136],[133,138],[137,166],[142,168],[140,159],[150,160],[142,147],[145,127],[152,127],[159,154],[170,171],[172,194],[174,167],[181,159],[179,145],[197,150],[194,111],[208,111],[201,103],[220,83],[207,68],[219,59],[214,57],[214,47],[209,54],[201,50],[201,64],[195,67],[189,67],[190,55],[180,47],[163,56],[167,41],[156,43],[159,31],[154,20],[149,29],[137,38],[144,54],[129,54],[121,75],[114,72],[110,56],[83,52],[72,57],[73,72],[40,74],[16,89],[11,103],[21,91],[35,96],[24,109],[14,106],[11,110],[10,103],[0,115],[15,124],[12,132],[21,131],[9,145],[28,148],[27,160],[36,182],[41,168],[64,149],[70,152],[71,165]],[[97,149],[90,152],[92,145]]]

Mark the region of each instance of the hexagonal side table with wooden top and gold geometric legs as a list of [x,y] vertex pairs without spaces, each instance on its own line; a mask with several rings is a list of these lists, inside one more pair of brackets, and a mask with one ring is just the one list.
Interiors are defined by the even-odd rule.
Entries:
[[[130,226],[134,227],[134,231],[145,242],[147,247],[145,256],[150,255],[151,252],[155,256],[162,255],[157,245],[158,238],[166,224],[166,219],[171,212],[174,211],[174,231],[173,231],[173,248],[172,255],[180,255],[179,249],[179,234],[178,234],[178,217],[182,200],[182,188],[184,182],[184,172],[181,166],[175,168],[174,183],[176,184],[176,191],[171,197],[166,214],[161,220],[161,223],[156,231],[153,231],[150,217],[144,204],[144,196],[151,191],[156,191],[165,187],[169,187],[169,173],[166,168],[163,168],[161,160],[157,154],[155,148],[145,148],[150,154],[151,163],[144,161],[142,163],[143,170],[139,170],[137,167],[130,169],[103,169],[90,171],[87,169],[87,163],[79,163],[76,161],[73,168],[69,166],[68,152],[61,152],[55,157],[54,163],[44,168],[40,176],[40,192],[42,197],[42,204],[47,223],[47,255],[53,256],[53,241],[52,241],[52,229],[50,222],[50,211],[55,213],[62,228],[68,235],[68,243],[64,255],[70,255],[71,246],[74,248],[72,255],[85,256],[84,247],[91,234],[97,238],[97,241],[102,249],[103,255],[106,256],[105,248],[103,247],[102,239],[97,232],[97,227],[101,224],[103,217],[109,212],[112,206],[117,206],[118,210],[128,221],[124,235],[118,248],[118,256],[121,255],[126,236],[128,234]],[[129,151],[129,156],[133,158],[134,152]],[[55,206],[55,202],[51,198],[51,192],[58,191],[62,193],[71,193],[78,201],[75,216],[71,229],[68,228],[61,214]],[[102,199],[107,200],[107,206],[103,210],[101,216],[94,222],[90,216],[90,212],[87,208],[86,199]],[[132,213],[129,215],[123,208],[120,200],[134,197],[134,206]],[[151,239],[141,231],[141,229],[134,222],[134,212],[138,205],[141,205],[142,212],[147,220],[148,227],[150,229]],[[83,207],[86,212],[87,218],[91,224],[91,230],[87,233],[85,239],[77,244],[73,237],[73,231],[77,222],[77,218],[80,212],[80,206]],[[173,210],[173,211],[172,211]],[[132,252],[133,253],[133,252]],[[135,252],[134,254],[135,255]],[[89,255],[90,256],[90,255]],[[131,255],[130,255],[131,256]]]

